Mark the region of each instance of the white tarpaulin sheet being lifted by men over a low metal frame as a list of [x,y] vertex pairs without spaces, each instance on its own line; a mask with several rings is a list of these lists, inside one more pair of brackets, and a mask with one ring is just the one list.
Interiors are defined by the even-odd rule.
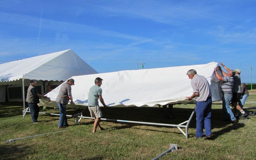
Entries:
[[[193,94],[187,71],[195,69],[198,75],[207,78],[212,91],[212,100],[220,101],[220,83],[214,72],[214,68],[217,66],[217,62],[210,62],[202,65],[124,70],[73,76],[75,85],[72,86],[72,96],[76,105],[87,105],[89,89],[94,85],[95,78],[100,77],[103,79],[101,85],[102,97],[108,106],[186,104],[188,101],[185,97]],[[46,95],[52,100],[49,106],[56,105],[54,101],[59,93],[60,86]],[[47,103],[43,101],[41,100],[41,105]],[[103,106],[100,101],[99,104]]]

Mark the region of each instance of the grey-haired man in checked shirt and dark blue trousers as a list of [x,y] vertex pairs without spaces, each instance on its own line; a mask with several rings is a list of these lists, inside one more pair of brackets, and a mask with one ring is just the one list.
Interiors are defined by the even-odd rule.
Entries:
[[200,76],[196,73],[195,69],[188,70],[187,75],[189,79],[191,79],[193,94],[186,98],[191,100],[196,97],[196,138],[203,137],[204,123],[204,139],[211,139],[212,93],[210,85],[204,76]]

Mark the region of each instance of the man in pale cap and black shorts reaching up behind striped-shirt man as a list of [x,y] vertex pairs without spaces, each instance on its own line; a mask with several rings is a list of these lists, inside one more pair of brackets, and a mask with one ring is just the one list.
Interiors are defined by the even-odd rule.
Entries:
[[[220,62],[220,65],[224,69],[226,69],[226,71],[228,71],[228,72],[231,70],[221,62]],[[238,117],[238,113],[237,113],[238,111],[241,112],[241,116],[238,117],[239,119],[241,119],[241,118],[246,117],[248,115],[248,113],[244,112],[244,110],[241,108],[241,106],[237,104],[240,100],[241,95],[242,95],[241,78],[240,78],[241,70],[240,69],[235,69],[234,71],[236,71],[236,75],[234,76],[234,86],[233,86],[233,89],[232,89],[232,91],[233,91],[232,106],[235,108],[235,117]]]

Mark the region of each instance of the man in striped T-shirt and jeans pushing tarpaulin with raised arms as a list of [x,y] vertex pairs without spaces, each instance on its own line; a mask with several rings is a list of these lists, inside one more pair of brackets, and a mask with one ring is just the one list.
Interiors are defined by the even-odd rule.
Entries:
[[[220,66],[219,66],[219,70],[220,70],[220,72],[222,72]],[[236,72],[234,70],[230,70],[230,71],[228,71],[227,76],[222,77],[218,73],[218,68],[216,67],[215,74],[216,74],[217,79],[219,79],[220,81],[223,81],[221,84],[221,87],[220,87],[220,91],[222,93],[222,109],[224,111],[224,116],[225,116],[226,120],[231,120],[231,122],[238,122],[238,120],[234,116],[234,113],[232,112],[232,110],[230,109],[230,106],[229,106],[229,104],[233,98],[232,88],[234,85],[234,76],[235,76]]]

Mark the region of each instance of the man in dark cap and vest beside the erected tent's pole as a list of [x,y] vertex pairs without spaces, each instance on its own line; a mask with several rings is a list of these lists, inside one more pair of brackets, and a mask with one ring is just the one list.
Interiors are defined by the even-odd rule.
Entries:
[[28,87],[27,98],[26,98],[26,102],[28,102],[28,107],[31,113],[33,124],[39,123],[37,121],[38,114],[39,114],[39,107],[37,104],[39,103],[39,98],[40,97],[47,98],[46,96],[42,96],[41,94],[39,94],[36,91],[35,86],[36,86],[36,80],[32,79]]

